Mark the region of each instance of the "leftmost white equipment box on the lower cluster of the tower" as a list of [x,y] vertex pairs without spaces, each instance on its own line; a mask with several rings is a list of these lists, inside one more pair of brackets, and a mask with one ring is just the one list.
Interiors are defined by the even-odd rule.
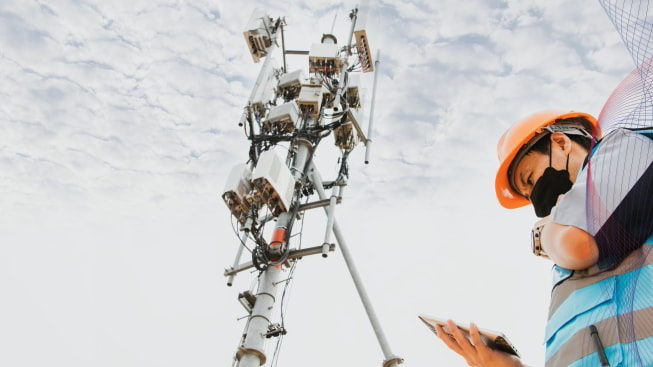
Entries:
[[234,166],[227,178],[227,184],[224,187],[222,199],[225,204],[241,224],[247,219],[247,194],[252,191],[252,171],[247,164]]

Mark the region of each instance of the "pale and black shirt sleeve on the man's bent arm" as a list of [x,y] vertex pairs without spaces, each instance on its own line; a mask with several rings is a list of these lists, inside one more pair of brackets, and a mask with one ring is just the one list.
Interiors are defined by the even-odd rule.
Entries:
[[599,264],[621,260],[653,233],[653,140],[618,129],[599,144],[551,220],[594,236]]

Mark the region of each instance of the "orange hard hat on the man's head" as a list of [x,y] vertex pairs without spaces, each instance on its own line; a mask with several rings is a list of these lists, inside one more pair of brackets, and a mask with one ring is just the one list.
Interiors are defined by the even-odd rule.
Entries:
[[[534,113],[525,119],[514,124],[508,129],[497,144],[497,154],[499,156],[499,170],[497,171],[497,178],[495,181],[495,189],[497,192],[497,199],[504,208],[514,209],[530,204],[530,201],[515,191],[511,184],[511,177],[509,169],[517,156],[520,153],[521,159],[524,152],[520,152],[522,147],[530,145],[531,139],[541,134],[544,130],[550,130],[558,120],[568,119],[572,117],[584,117],[591,126],[591,131],[585,131],[582,127],[574,127],[574,129],[583,130],[587,136],[592,134],[597,139],[601,137],[601,130],[594,116],[582,112],[565,112],[557,110],[549,110]],[[548,128],[547,128],[548,127]],[[539,135],[541,136],[541,135]],[[534,143],[531,142],[531,144]],[[532,146],[532,145],[531,145]],[[528,147],[530,148],[530,147]],[[515,162],[519,163],[519,162]]]

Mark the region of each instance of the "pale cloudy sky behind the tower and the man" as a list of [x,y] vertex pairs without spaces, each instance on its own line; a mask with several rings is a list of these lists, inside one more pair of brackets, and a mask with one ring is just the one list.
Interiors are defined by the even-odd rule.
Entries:
[[[334,16],[342,43],[354,5],[0,0],[0,365],[230,365],[254,279],[222,276],[238,240],[220,195],[247,159],[237,122],[260,67],[242,32],[259,7],[286,17],[288,48]],[[393,351],[466,365],[426,313],[543,365],[551,263],[530,254],[532,209],[496,201],[496,142],[537,110],[598,115],[625,47],[593,0],[372,1],[367,25],[374,150],[352,154],[337,217]],[[324,226],[308,213],[304,246]],[[280,366],[381,365],[339,252],[299,263],[288,305]]]

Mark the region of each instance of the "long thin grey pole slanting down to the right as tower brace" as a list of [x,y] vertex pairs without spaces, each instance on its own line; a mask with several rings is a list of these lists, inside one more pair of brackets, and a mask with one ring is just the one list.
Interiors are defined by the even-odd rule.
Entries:
[[[318,172],[317,168],[313,164],[311,164],[309,172],[311,174],[313,186],[317,190],[320,199],[322,200],[326,199],[327,196],[326,193],[324,192],[324,187],[322,186],[322,177],[320,176],[320,172]],[[324,208],[324,211],[326,212],[327,215],[329,214],[329,211],[326,207]],[[365,290],[365,286],[363,285],[363,280],[361,279],[360,274],[358,274],[358,270],[356,269],[356,264],[354,264],[354,260],[351,256],[351,253],[349,252],[349,247],[347,246],[347,242],[345,242],[345,238],[342,235],[342,232],[340,232],[340,226],[338,226],[338,221],[335,218],[333,219],[333,234],[336,236],[336,240],[338,240],[338,245],[340,246],[342,257],[345,259],[345,263],[347,264],[347,269],[349,269],[349,274],[351,275],[351,278],[354,281],[354,285],[356,286],[356,290],[358,291],[358,296],[360,297],[361,302],[363,303],[363,307],[367,312],[367,317],[370,319],[370,323],[372,324],[372,329],[374,329],[376,338],[378,339],[379,344],[381,345],[381,350],[383,351],[383,355],[385,356],[383,367],[393,367],[402,363],[403,359],[392,354],[390,345],[388,344],[385,334],[383,333],[383,328],[381,327],[381,323],[379,322],[379,319],[376,316],[376,312],[374,311],[372,302],[370,301],[370,298],[367,295],[367,291]]]

